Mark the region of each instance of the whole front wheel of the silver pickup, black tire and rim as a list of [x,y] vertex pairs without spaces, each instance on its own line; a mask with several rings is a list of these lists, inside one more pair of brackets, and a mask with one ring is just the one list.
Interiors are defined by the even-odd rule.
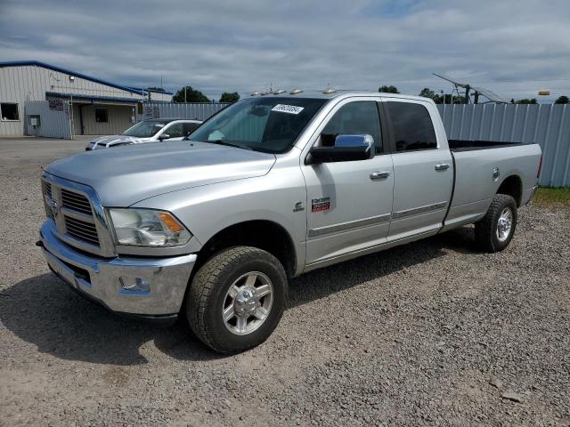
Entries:
[[[236,353],[251,349],[265,342],[279,324],[287,286],[285,270],[272,254],[250,246],[225,249],[192,279],[186,299],[188,323],[212,350]],[[224,319],[232,312],[232,318]]]

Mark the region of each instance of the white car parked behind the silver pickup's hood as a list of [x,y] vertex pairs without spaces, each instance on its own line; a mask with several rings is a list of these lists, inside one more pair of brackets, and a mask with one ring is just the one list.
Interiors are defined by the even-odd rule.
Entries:
[[154,118],[143,120],[133,127],[129,127],[120,135],[106,135],[95,138],[85,147],[86,151],[92,149],[109,149],[121,145],[140,144],[142,142],[180,141],[201,124],[199,120],[185,120],[180,118]]

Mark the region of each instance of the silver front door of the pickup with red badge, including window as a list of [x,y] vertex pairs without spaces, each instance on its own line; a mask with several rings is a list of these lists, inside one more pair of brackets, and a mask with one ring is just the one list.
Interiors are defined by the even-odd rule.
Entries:
[[319,265],[386,242],[392,212],[394,167],[385,153],[375,98],[340,101],[311,146],[332,145],[338,134],[370,134],[376,155],[301,165],[307,189],[306,264]]

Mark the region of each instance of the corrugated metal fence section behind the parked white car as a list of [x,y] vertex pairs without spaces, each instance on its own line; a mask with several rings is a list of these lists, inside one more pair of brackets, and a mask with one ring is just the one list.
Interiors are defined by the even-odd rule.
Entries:
[[137,114],[137,121],[147,118],[159,117],[179,117],[191,120],[206,120],[216,114],[220,109],[224,109],[229,104],[225,103],[169,103],[169,102],[145,102],[142,114]]

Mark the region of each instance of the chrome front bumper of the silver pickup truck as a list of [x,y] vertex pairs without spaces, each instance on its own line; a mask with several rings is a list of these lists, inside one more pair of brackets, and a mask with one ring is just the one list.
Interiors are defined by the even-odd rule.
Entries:
[[46,221],[40,230],[45,259],[79,294],[118,314],[157,323],[175,321],[196,254],[166,258],[101,258],[63,243]]

